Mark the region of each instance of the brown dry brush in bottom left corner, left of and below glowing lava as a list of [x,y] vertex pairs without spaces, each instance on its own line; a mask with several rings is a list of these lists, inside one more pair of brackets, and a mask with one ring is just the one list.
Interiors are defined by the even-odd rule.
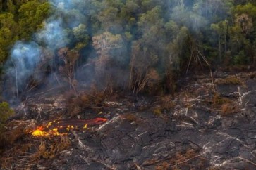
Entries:
[[[39,159],[53,159],[63,150],[71,146],[67,136],[54,138],[32,138],[28,133],[32,121],[12,121],[7,124],[7,130],[2,133],[0,150],[0,166],[8,169],[11,164],[16,168],[24,167],[24,162],[37,165]],[[28,165],[28,164],[27,164]],[[30,169],[30,168],[24,168]],[[32,169],[32,168],[31,168]]]

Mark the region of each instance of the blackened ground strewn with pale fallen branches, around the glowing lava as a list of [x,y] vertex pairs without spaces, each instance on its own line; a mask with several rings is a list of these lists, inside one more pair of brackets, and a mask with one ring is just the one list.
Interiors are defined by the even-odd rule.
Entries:
[[106,123],[46,138],[30,132],[66,118],[67,101],[35,93],[8,124],[1,169],[256,169],[255,75],[197,75],[174,97],[106,98],[68,115]]

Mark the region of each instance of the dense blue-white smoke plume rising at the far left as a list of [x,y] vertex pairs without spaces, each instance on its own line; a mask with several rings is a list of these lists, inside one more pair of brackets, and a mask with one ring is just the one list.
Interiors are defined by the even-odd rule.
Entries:
[[54,60],[45,57],[45,49],[49,51],[48,53],[56,53],[60,48],[67,46],[70,41],[67,28],[77,27],[80,21],[85,19],[74,10],[78,2],[49,0],[54,13],[44,20],[43,28],[31,35],[31,41],[17,41],[13,45],[11,55],[4,66],[6,79],[4,90],[8,91],[5,92],[8,93],[5,96],[8,98],[13,94],[18,96],[18,93],[25,91],[31,78],[41,81],[43,76],[36,75],[35,70],[38,70],[44,60]]

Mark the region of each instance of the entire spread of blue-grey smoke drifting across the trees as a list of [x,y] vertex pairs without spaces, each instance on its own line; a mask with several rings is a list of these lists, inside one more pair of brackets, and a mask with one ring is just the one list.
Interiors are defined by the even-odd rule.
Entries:
[[[6,62],[6,77],[9,82],[16,82],[16,94],[25,89],[31,77],[37,81],[42,81],[41,79],[45,78],[35,75],[37,70],[44,74],[40,65],[47,63],[45,60],[53,60],[52,70],[59,69],[58,73],[61,76],[64,75],[64,78],[69,76],[69,84],[76,79],[80,82],[94,81],[93,79],[97,78],[97,66],[100,66],[97,63],[102,65],[102,77],[107,74],[108,77],[111,75],[112,79],[114,77],[118,81],[127,81],[127,76],[124,76],[127,73],[123,72],[129,69],[128,63],[130,63],[133,48],[135,48],[133,44],[136,42],[141,42],[136,53],[147,51],[147,58],[157,58],[154,60],[159,61],[159,63],[152,62],[149,67],[156,68],[158,65],[159,70],[164,72],[165,68],[173,67],[172,63],[175,63],[175,60],[170,57],[173,53],[179,62],[190,52],[183,51],[181,48],[184,46],[184,49],[188,49],[183,44],[184,37],[191,34],[193,39],[200,41],[202,31],[209,30],[209,24],[227,8],[220,0],[148,1],[146,3],[138,1],[49,0],[49,3],[54,10],[52,10],[51,16],[42,23],[42,29],[31,35],[32,41],[17,41],[11,49],[8,62]],[[224,17],[225,15],[223,15]],[[97,38],[98,34],[96,33],[104,34],[102,32],[111,32],[111,35],[105,38],[99,37],[95,42],[110,42],[109,49],[111,48],[111,50],[95,48],[94,51],[92,47],[95,47],[95,42],[92,42],[92,36]],[[123,41],[118,42],[118,48],[112,48],[113,41],[118,38],[116,34],[120,35],[120,39]],[[84,48],[85,46],[87,48]],[[62,49],[61,53],[59,53],[60,49]],[[99,56],[100,53],[104,53],[109,58],[107,58],[108,60],[103,60],[104,58],[100,57],[94,58],[95,60],[90,63],[92,65],[85,65],[84,62],[87,58],[81,59],[80,54],[82,53],[78,53],[78,51],[83,55],[86,53],[87,58],[92,55],[93,57]],[[59,56],[59,58],[50,58],[46,53]],[[68,57],[71,57],[71,60],[68,60]],[[142,58],[140,55],[136,57]],[[81,59],[80,62],[76,62],[78,58]],[[149,60],[147,58],[142,60],[142,65]],[[58,60],[62,60],[62,63],[59,63]],[[165,63],[166,60],[170,62]],[[67,65],[64,65],[68,62],[73,64],[71,65],[72,69],[77,64],[82,66],[76,68],[78,72],[74,76],[71,75],[74,70],[68,70]],[[68,72],[65,72],[67,70]],[[120,70],[123,72],[118,74]],[[118,77],[119,75],[120,77]],[[51,77],[56,77],[56,75]],[[112,80],[108,81],[112,83]],[[102,79],[99,79],[98,82],[102,83]],[[61,83],[58,82],[58,84]]]

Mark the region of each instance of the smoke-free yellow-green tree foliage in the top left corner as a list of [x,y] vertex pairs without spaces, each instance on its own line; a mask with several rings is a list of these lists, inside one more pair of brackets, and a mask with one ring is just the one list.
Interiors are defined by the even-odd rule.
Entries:
[[0,1],[0,65],[7,60],[15,41],[31,39],[42,28],[49,11],[47,1]]

